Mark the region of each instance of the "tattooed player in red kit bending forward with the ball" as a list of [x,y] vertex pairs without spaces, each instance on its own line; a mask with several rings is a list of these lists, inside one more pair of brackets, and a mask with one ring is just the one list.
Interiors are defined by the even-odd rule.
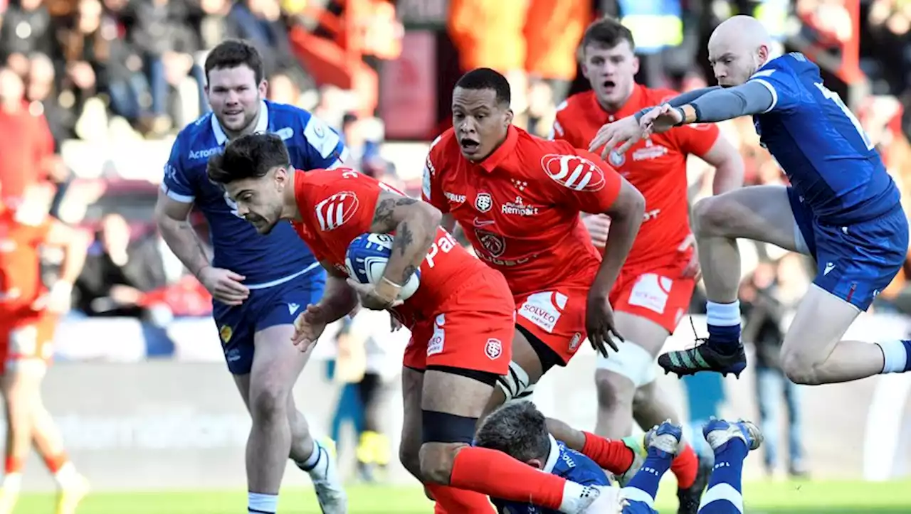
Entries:
[[[366,308],[390,309],[411,330],[409,364],[424,373],[405,383],[404,397],[416,401],[405,401],[404,425],[423,435],[419,471],[435,498],[457,497],[465,492],[454,489],[460,488],[531,498],[568,513],[599,512],[610,500],[598,488],[469,446],[496,378],[507,373],[516,306],[503,276],[439,227],[439,211],[351,169],[296,170],[281,137],[271,134],[232,141],[211,158],[209,178],[225,187],[240,216],[260,232],[292,220],[329,273],[322,299],[295,322],[293,340],[302,351],[359,300]],[[386,259],[382,277],[373,284],[350,278],[366,263],[355,257],[347,267],[349,247],[381,247],[384,234],[394,234],[394,242],[373,257]],[[419,287],[400,298],[415,273]]]

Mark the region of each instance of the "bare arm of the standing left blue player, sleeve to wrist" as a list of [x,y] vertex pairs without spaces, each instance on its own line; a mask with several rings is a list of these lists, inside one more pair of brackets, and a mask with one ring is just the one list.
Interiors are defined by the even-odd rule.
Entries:
[[189,211],[192,208],[192,203],[179,202],[159,190],[159,199],[155,204],[155,223],[174,255],[190,273],[200,277],[202,268],[210,264],[205,247],[197,237],[196,230],[189,224]]

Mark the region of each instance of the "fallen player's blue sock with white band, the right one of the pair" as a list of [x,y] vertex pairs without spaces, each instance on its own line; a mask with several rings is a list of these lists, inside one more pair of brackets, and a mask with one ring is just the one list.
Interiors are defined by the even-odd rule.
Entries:
[[741,438],[732,438],[715,448],[715,467],[711,470],[709,488],[702,495],[699,514],[743,512],[741,479],[743,459],[749,452]]

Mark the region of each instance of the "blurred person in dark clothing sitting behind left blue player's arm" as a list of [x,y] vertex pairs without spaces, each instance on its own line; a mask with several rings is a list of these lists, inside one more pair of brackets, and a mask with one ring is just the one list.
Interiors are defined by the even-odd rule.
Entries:
[[[101,220],[86,266],[77,280],[75,305],[88,316],[141,317],[143,294],[166,283],[154,240],[130,244],[127,220],[109,214]],[[145,244],[146,241],[150,244]]]

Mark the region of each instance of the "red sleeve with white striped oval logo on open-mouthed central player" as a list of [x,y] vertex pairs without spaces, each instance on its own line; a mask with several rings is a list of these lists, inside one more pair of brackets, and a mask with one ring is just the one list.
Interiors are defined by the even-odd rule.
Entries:
[[541,158],[541,166],[556,183],[560,199],[581,212],[606,212],[619,197],[619,173],[588,150],[561,143],[554,147],[556,152]]

